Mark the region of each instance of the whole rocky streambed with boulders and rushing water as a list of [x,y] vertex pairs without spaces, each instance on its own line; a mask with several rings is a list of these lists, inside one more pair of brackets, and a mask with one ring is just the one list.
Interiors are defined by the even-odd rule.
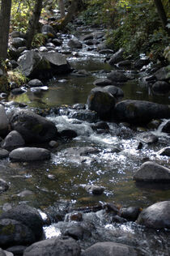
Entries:
[[125,60],[100,29],[74,36],[15,45],[30,81],[1,94],[0,247],[169,255],[168,67]]

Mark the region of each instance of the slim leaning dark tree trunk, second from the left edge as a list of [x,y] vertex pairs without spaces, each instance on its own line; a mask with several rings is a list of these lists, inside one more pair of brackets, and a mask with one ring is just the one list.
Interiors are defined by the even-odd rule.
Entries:
[[40,19],[40,13],[42,10],[42,2],[43,0],[36,0],[35,2],[35,6],[34,6],[34,11],[32,13],[32,18],[29,21],[28,24],[28,31],[27,31],[27,40],[28,40],[28,44],[27,47],[28,49],[32,48],[32,40],[36,34],[36,28],[38,26],[38,22]]

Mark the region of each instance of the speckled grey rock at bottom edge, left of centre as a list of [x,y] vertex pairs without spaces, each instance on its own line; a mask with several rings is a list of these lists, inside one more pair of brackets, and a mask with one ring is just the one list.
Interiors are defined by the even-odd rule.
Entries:
[[81,249],[73,238],[60,237],[39,241],[29,246],[23,256],[80,256]]

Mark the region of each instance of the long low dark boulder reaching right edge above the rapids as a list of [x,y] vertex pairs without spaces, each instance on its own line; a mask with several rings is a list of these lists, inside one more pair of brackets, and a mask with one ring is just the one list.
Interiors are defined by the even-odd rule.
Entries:
[[144,124],[156,118],[169,118],[170,106],[144,100],[123,100],[115,106],[113,119]]

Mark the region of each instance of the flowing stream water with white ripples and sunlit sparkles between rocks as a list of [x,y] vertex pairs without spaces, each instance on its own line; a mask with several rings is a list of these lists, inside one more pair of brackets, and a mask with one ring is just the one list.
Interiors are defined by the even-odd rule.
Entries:
[[[133,181],[134,172],[147,158],[164,166],[170,166],[166,156],[159,156],[156,152],[170,145],[170,136],[158,130],[152,130],[159,136],[158,143],[145,144],[138,150],[138,134],[135,129],[124,124],[108,123],[109,132],[97,134],[91,129],[91,123],[78,120],[74,117],[76,112],[70,106],[85,104],[93,82],[98,78],[107,76],[113,70],[104,62],[104,55],[96,50],[79,50],[79,56],[68,55],[70,65],[76,70],[87,70],[87,77],[75,75],[61,75],[53,78],[41,89],[30,89],[19,96],[10,96],[9,100],[26,103],[28,107],[40,109],[53,109],[62,106],[59,113],[53,111],[47,116],[53,121],[58,130],[73,128],[78,137],[71,141],[58,142],[58,147],[52,150],[51,160],[40,163],[11,163],[1,160],[0,177],[8,181],[10,190],[1,194],[0,207],[4,203],[28,203],[42,211],[53,206],[59,200],[70,202],[74,207],[93,206],[99,203],[114,202],[123,207],[147,207],[152,203],[170,200],[170,187],[165,184],[136,184]],[[142,81],[142,73],[138,74],[126,70],[131,78],[121,86],[125,93],[124,99],[150,100],[158,103],[170,104],[169,95],[155,96]],[[141,78],[141,79],[140,79]],[[11,108],[7,109],[11,111]],[[167,122],[167,120],[164,120]],[[93,147],[98,153],[90,156],[79,156],[68,150],[70,147],[79,151],[82,147]],[[115,150],[118,148],[118,150]],[[95,184],[104,186],[104,194],[92,196],[87,194],[84,186]],[[19,194],[23,190],[32,193]],[[169,255],[169,232],[150,232],[137,224],[109,224],[100,213],[88,213],[84,220],[90,220],[96,225],[95,235],[83,247],[96,241],[119,241],[138,246],[144,255]],[[46,237],[59,235],[62,224],[53,224],[45,228]],[[103,232],[105,230],[105,233]]]

